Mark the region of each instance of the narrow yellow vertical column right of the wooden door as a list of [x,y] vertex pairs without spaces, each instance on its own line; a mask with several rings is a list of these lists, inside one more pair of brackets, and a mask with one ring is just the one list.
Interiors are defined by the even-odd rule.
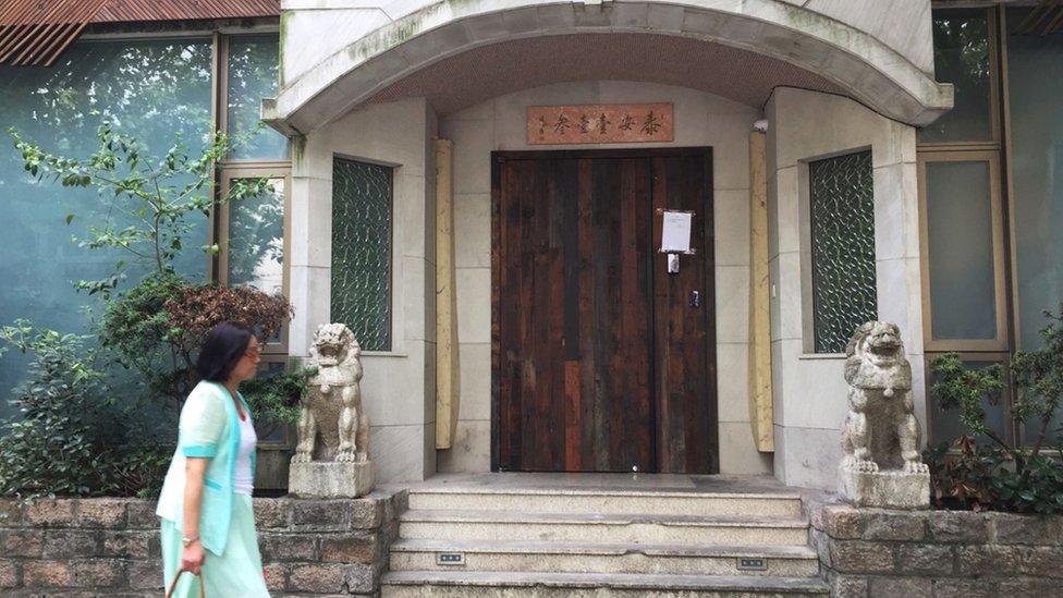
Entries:
[[767,136],[749,134],[749,425],[760,452],[775,450],[771,404],[771,307],[768,304]]

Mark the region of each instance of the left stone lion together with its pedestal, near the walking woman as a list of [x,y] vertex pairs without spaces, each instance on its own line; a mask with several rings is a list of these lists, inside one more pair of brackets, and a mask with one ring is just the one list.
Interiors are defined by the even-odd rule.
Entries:
[[357,498],[374,487],[369,419],[362,408],[362,347],[342,324],[314,334],[317,367],[298,420],[288,491],[298,498]]

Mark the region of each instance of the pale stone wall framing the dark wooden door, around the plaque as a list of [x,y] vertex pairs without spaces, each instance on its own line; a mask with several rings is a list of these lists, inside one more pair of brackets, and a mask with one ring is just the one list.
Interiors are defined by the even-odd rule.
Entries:
[[[490,152],[572,149],[529,146],[529,106],[671,101],[675,142],[638,147],[711,146],[717,265],[717,371],[720,385],[721,469],[770,472],[770,456],[753,443],[748,408],[749,164],[748,132],[756,110],[682,87],[632,82],[576,82],[510,94],[440,121],[440,135],[454,143],[455,251],[462,400],[453,449],[439,451],[441,472],[486,472],[490,466]],[[589,146],[598,149],[623,144]]]

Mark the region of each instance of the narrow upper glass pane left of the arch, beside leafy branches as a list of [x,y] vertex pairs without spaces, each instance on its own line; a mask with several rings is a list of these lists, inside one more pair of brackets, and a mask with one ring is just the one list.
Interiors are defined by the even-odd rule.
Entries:
[[[277,34],[240,35],[229,41],[229,134],[248,135],[260,122],[262,98],[277,97]],[[285,160],[288,138],[266,127],[230,152],[233,160]]]

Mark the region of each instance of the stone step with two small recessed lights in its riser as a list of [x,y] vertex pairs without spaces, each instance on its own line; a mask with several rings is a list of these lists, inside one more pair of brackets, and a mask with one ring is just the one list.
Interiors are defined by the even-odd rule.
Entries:
[[[460,553],[463,563],[439,564],[437,556]],[[740,569],[760,559],[763,569]],[[747,566],[754,563],[746,563]],[[554,573],[652,573],[662,575],[773,575],[819,573],[806,546],[685,546],[589,542],[498,542],[399,540],[391,545],[391,571],[496,571]]]

